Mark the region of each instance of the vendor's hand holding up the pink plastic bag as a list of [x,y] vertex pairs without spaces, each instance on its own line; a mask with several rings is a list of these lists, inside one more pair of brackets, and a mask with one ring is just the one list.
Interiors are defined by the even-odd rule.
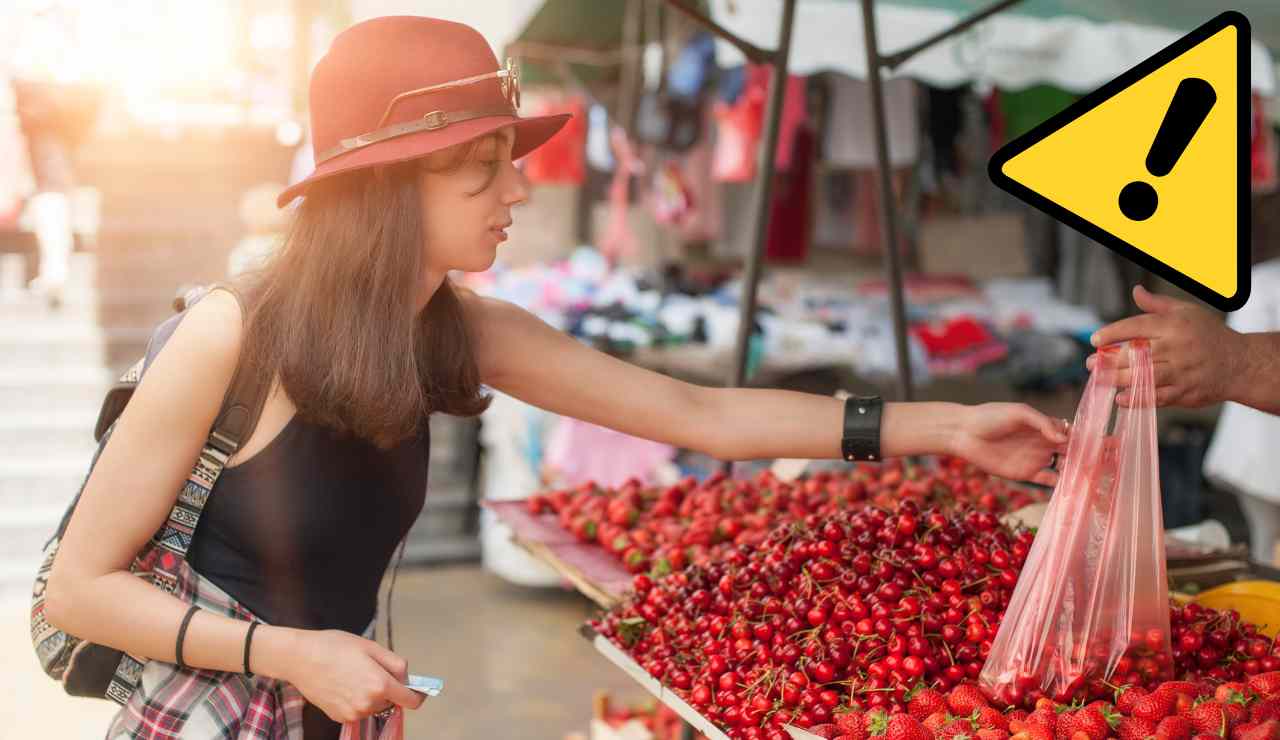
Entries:
[[[1093,346],[1149,339],[1156,406],[1196,408],[1230,398],[1230,383],[1238,375],[1236,364],[1244,353],[1242,335],[1208,310],[1167,296],[1156,296],[1142,286],[1134,287],[1133,300],[1146,312],[1098,329],[1093,334]],[[1120,371],[1116,385],[1128,388],[1132,378],[1128,353],[1117,352],[1117,356]],[[1097,362],[1098,356],[1094,353],[1085,365],[1093,370]],[[1129,406],[1132,402],[1128,390],[1116,396],[1120,406]]]

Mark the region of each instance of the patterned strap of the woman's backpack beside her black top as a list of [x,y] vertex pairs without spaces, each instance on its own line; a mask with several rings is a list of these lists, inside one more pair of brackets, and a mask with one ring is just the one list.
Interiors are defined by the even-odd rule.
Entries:
[[[241,305],[241,314],[244,314],[244,301],[239,292],[229,286],[215,286],[211,289],[215,288],[225,289],[236,296]],[[200,297],[204,294],[201,293]],[[195,301],[188,301],[187,306],[191,302]],[[266,405],[269,390],[269,384],[259,382],[257,373],[242,355],[223,399],[221,411],[200,451],[200,457],[196,458],[196,466],[187,476],[182,490],[178,492],[178,501],[174,502],[169,519],[152,536],[155,547],[147,556],[146,566],[150,566],[151,581],[164,591],[177,593],[178,567],[191,548],[196,526],[200,524],[200,515],[205,503],[209,502],[209,494],[214,484],[218,483],[223,469],[227,467],[227,462],[236,454],[241,444],[253,434],[257,419],[262,414],[262,406]],[[138,565],[134,563],[136,567]],[[142,677],[142,661],[128,653],[122,654],[115,676],[108,685],[106,698],[120,704],[127,703]]]

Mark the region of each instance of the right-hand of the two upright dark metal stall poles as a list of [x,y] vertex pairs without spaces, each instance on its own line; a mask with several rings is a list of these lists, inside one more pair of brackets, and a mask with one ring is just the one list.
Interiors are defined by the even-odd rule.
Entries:
[[879,221],[888,260],[884,262],[893,314],[893,343],[897,350],[897,398],[911,401],[911,355],[906,344],[906,307],[902,301],[902,256],[897,251],[897,209],[888,161],[888,124],[884,120],[884,84],[881,79],[879,46],[876,38],[876,0],[863,0],[863,37],[867,47],[867,79],[872,92],[872,120],[876,127],[876,160],[879,174]]

